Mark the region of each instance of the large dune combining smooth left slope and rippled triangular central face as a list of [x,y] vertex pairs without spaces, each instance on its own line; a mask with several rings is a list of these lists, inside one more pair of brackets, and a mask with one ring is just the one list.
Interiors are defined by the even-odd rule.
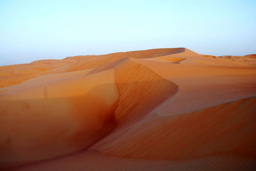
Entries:
[[148,114],[178,90],[131,59],[88,71],[46,75],[5,88],[0,94],[3,165],[86,149],[116,124]]

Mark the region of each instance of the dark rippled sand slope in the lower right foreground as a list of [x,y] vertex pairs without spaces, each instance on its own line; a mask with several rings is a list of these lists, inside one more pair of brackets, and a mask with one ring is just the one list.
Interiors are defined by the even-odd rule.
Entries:
[[[256,154],[256,98],[177,117],[143,119],[91,149],[120,158],[180,160],[215,154]],[[128,131],[129,130],[129,131]]]

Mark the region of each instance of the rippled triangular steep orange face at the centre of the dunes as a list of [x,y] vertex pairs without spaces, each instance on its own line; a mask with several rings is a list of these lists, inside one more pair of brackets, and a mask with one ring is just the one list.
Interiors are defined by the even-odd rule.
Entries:
[[129,115],[148,114],[179,89],[178,85],[131,59],[121,61],[115,66],[115,71],[120,92],[119,105],[115,111],[118,123]]

